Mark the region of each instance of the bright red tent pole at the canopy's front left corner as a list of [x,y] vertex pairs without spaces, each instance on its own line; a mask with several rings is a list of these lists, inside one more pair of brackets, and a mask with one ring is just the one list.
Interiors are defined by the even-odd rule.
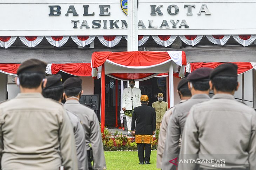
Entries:
[[101,132],[105,128],[105,64],[101,66]]

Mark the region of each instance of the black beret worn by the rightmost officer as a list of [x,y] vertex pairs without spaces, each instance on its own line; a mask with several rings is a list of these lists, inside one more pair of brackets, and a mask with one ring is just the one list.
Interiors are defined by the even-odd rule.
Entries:
[[210,79],[216,76],[228,76],[237,77],[237,65],[233,63],[225,63],[216,67],[213,72],[211,72]]

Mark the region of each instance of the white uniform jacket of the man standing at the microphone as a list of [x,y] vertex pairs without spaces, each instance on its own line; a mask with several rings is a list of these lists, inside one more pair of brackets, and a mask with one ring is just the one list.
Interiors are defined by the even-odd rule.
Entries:
[[125,88],[123,89],[123,97],[122,97],[122,108],[126,110],[132,110],[132,90],[133,90],[133,109],[141,106],[140,97],[141,91],[139,88]]

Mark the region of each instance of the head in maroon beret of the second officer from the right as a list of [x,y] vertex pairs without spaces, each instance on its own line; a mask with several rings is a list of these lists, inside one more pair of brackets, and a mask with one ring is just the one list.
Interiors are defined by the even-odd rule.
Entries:
[[203,67],[198,68],[187,77],[188,81],[193,85],[195,90],[207,91],[209,90],[209,77],[213,71],[211,68]]

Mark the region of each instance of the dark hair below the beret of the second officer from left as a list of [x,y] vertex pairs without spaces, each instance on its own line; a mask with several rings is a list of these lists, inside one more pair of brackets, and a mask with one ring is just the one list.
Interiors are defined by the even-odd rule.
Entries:
[[49,88],[49,89],[43,89],[43,97],[45,98],[51,98],[56,101],[59,101],[62,98],[63,95],[63,86],[62,87],[56,87],[56,88]]

